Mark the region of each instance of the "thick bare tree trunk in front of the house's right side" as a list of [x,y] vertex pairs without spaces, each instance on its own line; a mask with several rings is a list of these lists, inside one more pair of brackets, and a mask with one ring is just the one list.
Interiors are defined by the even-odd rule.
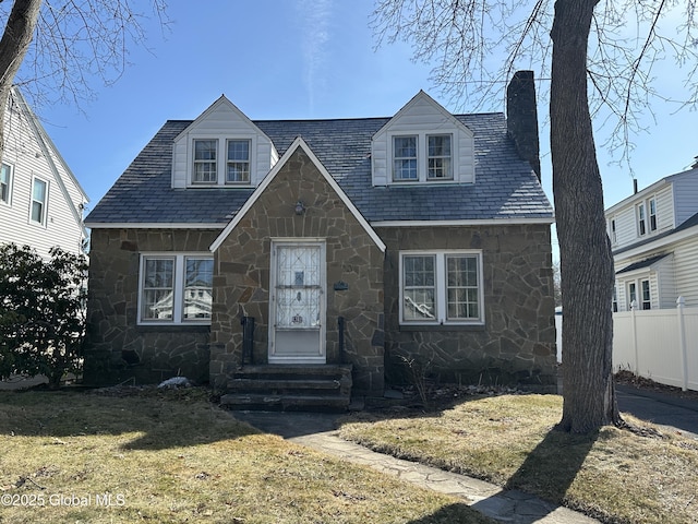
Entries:
[[557,0],[550,98],[562,274],[563,418],[588,433],[621,424],[612,368],[613,258],[587,98],[587,47],[599,0]]

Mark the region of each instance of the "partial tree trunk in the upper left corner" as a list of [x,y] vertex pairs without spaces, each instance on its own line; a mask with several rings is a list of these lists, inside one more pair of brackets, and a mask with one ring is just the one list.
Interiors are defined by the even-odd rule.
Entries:
[[14,0],[0,39],[0,158],[4,153],[4,111],[10,88],[26,55],[43,0]]

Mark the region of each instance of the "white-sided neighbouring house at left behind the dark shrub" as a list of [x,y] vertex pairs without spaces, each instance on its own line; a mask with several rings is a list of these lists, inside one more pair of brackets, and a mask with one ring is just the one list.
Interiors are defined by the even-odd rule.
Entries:
[[82,253],[87,195],[16,87],[3,124],[0,242],[28,245],[44,258],[55,246]]

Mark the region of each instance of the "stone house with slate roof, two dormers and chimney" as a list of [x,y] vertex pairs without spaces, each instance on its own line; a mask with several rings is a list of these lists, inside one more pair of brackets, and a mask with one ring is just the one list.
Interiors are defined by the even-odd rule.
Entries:
[[251,120],[221,96],[167,121],[86,218],[85,380],[182,374],[245,403],[333,373],[382,396],[419,360],[553,389],[531,72],[508,99],[508,121],[424,92],[387,118]]

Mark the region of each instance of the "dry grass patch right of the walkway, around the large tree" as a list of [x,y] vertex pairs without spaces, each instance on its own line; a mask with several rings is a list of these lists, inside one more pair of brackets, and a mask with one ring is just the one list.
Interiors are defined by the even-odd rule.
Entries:
[[341,437],[535,493],[605,522],[698,522],[697,441],[613,427],[593,437],[570,436],[553,430],[561,413],[555,395],[502,395],[435,414],[362,414],[342,425]]

